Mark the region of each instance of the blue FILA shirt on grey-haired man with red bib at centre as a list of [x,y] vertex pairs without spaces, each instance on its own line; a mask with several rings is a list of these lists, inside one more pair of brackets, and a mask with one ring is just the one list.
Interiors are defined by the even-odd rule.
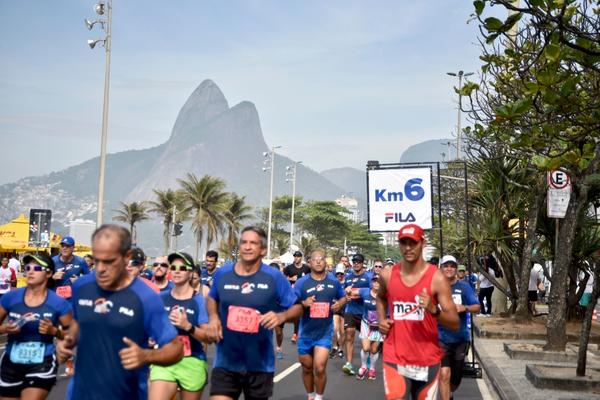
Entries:
[[224,265],[214,276],[209,296],[218,303],[223,340],[217,343],[214,368],[233,372],[274,372],[273,331],[258,327],[256,333],[231,330],[227,324],[230,306],[248,307],[260,314],[281,312],[296,303],[296,295],[283,274],[262,264],[249,276],[235,272],[235,265]]

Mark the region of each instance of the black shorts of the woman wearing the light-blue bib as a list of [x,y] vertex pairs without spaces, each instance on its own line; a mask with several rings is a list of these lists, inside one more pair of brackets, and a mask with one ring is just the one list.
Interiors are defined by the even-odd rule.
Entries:
[[57,371],[54,354],[44,357],[41,364],[15,364],[5,352],[0,359],[0,396],[21,397],[21,391],[30,387],[50,391]]

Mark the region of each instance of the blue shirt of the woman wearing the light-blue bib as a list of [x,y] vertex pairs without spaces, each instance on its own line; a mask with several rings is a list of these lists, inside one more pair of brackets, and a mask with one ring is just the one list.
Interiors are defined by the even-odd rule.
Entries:
[[59,318],[71,313],[71,305],[68,301],[59,297],[56,293],[48,290],[46,300],[37,307],[25,304],[25,291],[27,287],[12,290],[0,299],[0,305],[6,310],[9,321],[16,321],[21,317],[30,320],[21,327],[19,333],[8,335],[6,354],[10,354],[14,343],[42,342],[46,345],[44,356],[54,353],[54,336],[42,335],[39,332],[40,320],[49,319],[52,325],[59,325]]

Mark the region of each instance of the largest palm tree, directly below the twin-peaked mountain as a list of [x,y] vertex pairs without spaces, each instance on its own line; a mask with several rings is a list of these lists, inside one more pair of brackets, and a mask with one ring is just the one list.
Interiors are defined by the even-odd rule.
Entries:
[[195,174],[188,173],[187,179],[177,181],[184,193],[186,210],[193,214],[192,227],[196,234],[196,258],[198,258],[205,233],[208,248],[221,232],[220,228],[226,220],[229,195],[224,191],[225,181],[214,176],[204,175],[198,179]]

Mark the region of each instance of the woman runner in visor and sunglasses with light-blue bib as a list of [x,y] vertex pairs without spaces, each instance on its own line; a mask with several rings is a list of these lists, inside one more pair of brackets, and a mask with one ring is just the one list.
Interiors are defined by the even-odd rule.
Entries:
[[73,318],[71,305],[48,290],[54,262],[46,253],[23,258],[27,286],[13,290],[0,301],[0,333],[8,333],[0,360],[2,398],[44,399],[56,383],[58,362],[54,337]]

